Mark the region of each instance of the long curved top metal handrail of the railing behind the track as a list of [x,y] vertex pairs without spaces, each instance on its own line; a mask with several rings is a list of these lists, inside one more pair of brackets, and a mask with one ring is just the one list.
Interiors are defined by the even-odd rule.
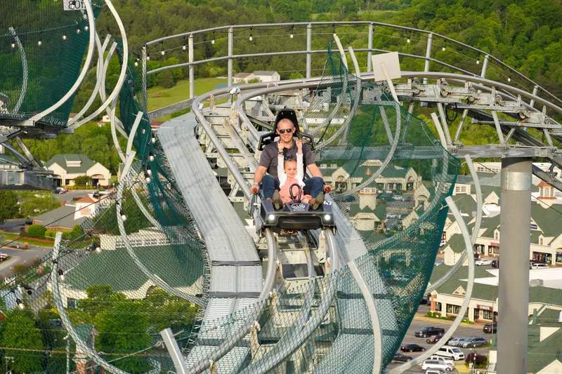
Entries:
[[[249,29],[249,28],[278,28],[278,27],[300,27],[300,28],[311,28],[313,25],[318,25],[318,26],[329,26],[329,25],[333,25],[333,26],[342,26],[342,25],[350,25],[350,26],[359,26],[359,25],[364,25],[366,27],[369,27],[370,29],[370,40],[372,42],[372,30],[374,26],[380,26],[380,27],[385,27],[388,29],[397,29],[397,30],[402,30],[402,31],[407,31],[407,32],[415,32],[415,33],[419,33],[419,34],[426,34],[428,36],[428,39],[434,39],[436,37],[443,39],[443,41],[446,41],[452,45],[457,45],[457,46],[462,46],[462,48],[466,48],[469,49],[470,51],[476,52],[478,53],[478,55],[483,55],[485,56],[485,58],[487,60],[492,60],[493,62],[496,62],[498,65],[504,67],[505,69],[508,69],[509,72],[512,72],[514,74],[516,74],[517,76],[519,76],[521,79],[525,80],[526,82],[528,82],[529,84],[532,84],[533,86],[535,86],[537,89],[540,89],[540,91],[542,91],[543,93],[546,93],[547,95],[549,95],[551,98],[556,99],[558,102],[562,103],[562,100],[557,98],[556,95],[554,95],[553,93],[547,91],[544,87],[540,86],[539,84],[537,84],[535,81],[533,81],[532,79],[528,78],[527,76],[523,75],[521,72],[518,72],[516,69],[514,69],[513,67],[510,67],[509,65],[507,65],[506,63],[502,62],[502,60],[499,60],[498,58],[495,58],[493,55],[490,55],[490,53],[487,53],[485,51],[482,51],[481,49],[475,48],[473,46],[469,46],[468,44],[464,44],[461,41],[457,41],[455,39],[452,39],[448,36],[444,36],[441,34],[438,34],[436,32],[431,32],[428,30],[424,30],[424,29],[417,29],[415,27],[406,27],[406,26],[400,26],[400,25],[391,25],[388,23],[384,23],[384,22],[369,22],[369,21],[338,21],[338,22],[285,22],[285,23],[266,23],[266,24],[256,24],[256,25],[227,25],[227,26],[219,26],[219,27],[213,27],[213,28],[209,28],[209,29],[200,29],[200,30],[195,30],[195,31],[190,31],[190,32],[183,32],[181,34],[175,34],[175,35],[170,35],[170,36],[164,36],[162,38],[159,39],[155,39],[152,41],[148,41],[144,44],[145,48],[152,45],[152,44],[157,44],[157,43],[163,43],[166,40],[170,40],[170,39],[176,39],[176,38],[183,38],[185,36],[194,36],[197,34],[204,34],[204,33],[208,33],[208,32],[217,32],[217,31],[223,31],[223,30],[230,30],[230,29]],[[355,51],[363,51],[360,49],[357,49]],[[373,50],[374,51],[374,50]],[[318,53],[315,51],[304,51],[304,53]],[[265,54],[264,54],[265,55]],[[278,54],[274,54],[274,55],[278,55]],[[410,57],[414,57],[414,55],[411,55]],[[426,57],[424,56],[415,56],[417,58],[423,58],[424,60],[426,60]],[[233,59],[233,58],[237,58],[235,55],[231,55],[231,56],[226,56],[226,59]],[[212,60],[212,59],[211,59]],[[433,59],[431,59],[431,62],[437,62],[437,61],[433,61]],[[369,70],[369,69],[367,69]],[[147,72],[148,74],[148,72]],[[472,74],[472,73],[471,73]]]

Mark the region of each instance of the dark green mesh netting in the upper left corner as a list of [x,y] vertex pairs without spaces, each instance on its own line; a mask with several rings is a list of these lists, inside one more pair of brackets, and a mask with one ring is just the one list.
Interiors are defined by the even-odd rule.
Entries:
[[[2,1],[0,20],[0,119],[29,119],[58,102],[77,80],[89,41],[82,11],[64,1]],[[91,1],[94,14],[101,1]],[[41,120],[66,126],[74,97]]]

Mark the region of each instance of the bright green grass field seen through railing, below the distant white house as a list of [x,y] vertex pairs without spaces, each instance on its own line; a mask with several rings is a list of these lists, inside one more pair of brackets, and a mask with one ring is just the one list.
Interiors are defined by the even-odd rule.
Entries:
[[[226,83],[226,79],[204,78],[195,81],[195,95],[212,91],[217,84]],[[157,97],[159,95],[159,97]],[[182,80],[172,88],[155,86],[148,88],[148,112],[166,107],[189,98],[189,81]]]

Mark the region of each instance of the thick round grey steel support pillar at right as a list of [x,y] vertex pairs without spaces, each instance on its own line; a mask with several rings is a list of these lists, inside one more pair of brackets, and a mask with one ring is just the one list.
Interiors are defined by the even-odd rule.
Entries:
[[502,159],[498,373],[527,373],[531,170],[531,159]]

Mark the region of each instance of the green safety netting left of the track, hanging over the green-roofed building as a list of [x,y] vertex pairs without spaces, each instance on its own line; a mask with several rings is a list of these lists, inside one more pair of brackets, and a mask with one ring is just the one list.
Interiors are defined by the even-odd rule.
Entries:
[[[118,108],[126,133],[141,110],[135,81],[129,66]],[[146,114],[133,150],[136,161],[117,192],[77,212],[89,218],[65,234],[58,256],[51,252],[0,287],[0,359],[6,370],[103,371],[67,336],[55,307],[58,295],[81,340],[129,373],[173,370],[157,344],[164,328],[183,345],[197,333],[209,282],[204,243]],[[53,262],[60,269],[54,273]]]

